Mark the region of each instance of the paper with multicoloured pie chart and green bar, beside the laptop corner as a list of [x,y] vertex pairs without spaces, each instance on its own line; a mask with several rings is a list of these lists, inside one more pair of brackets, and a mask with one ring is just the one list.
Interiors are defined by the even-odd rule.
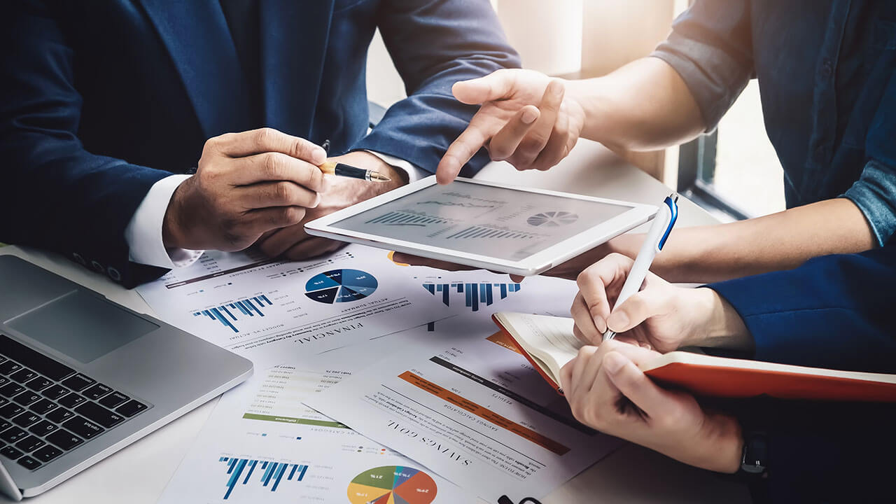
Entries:
[[[361,346],[366,352],[394,348]],[[224,395],[159,503],[473,502],[422,465],[301,403],[369,363],[338,352],[314,369],[267,369]]]

